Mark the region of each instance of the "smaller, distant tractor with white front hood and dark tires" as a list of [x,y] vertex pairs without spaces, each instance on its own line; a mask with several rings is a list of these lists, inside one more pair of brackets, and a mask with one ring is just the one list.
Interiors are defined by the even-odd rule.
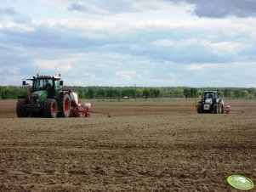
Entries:
[[197,113],[224,113],[224,101],[219,99],[219,92],[204,91],[197,104]]

